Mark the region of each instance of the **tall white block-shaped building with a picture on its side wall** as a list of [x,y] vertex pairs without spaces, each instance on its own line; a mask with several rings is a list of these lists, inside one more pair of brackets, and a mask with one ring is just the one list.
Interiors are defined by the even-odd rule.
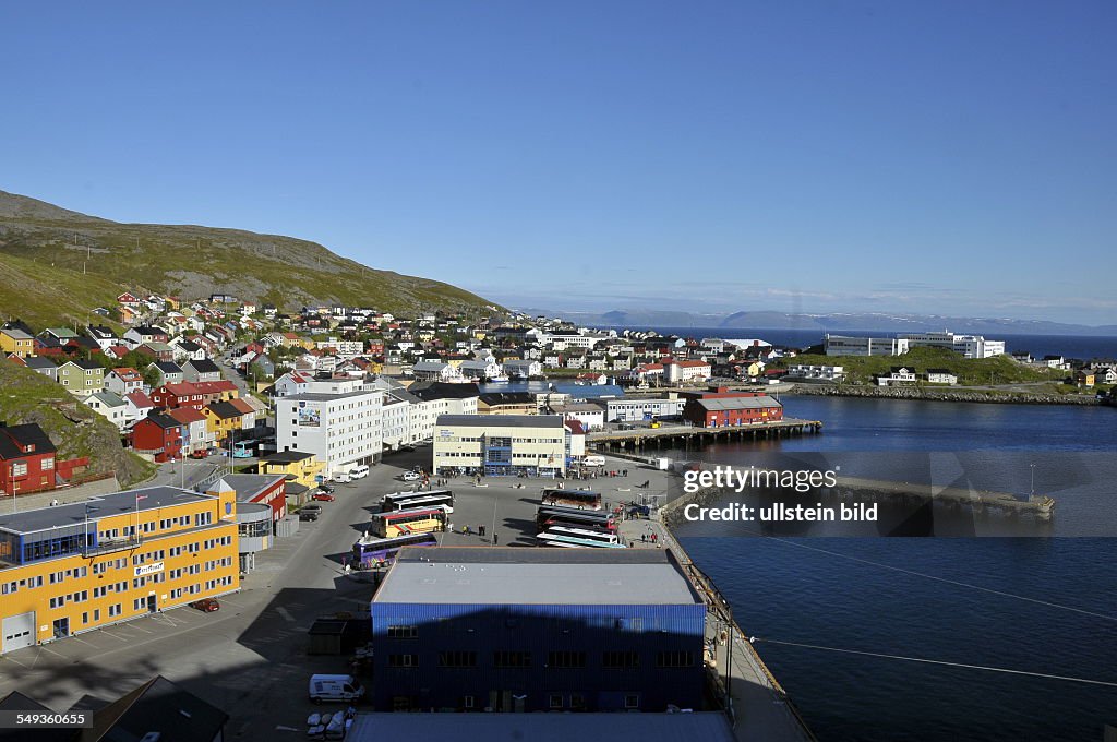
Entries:
[[314,454],[327,475],[375,464],[383,450],[383,402],[379,390],[277,398],[276,446]]

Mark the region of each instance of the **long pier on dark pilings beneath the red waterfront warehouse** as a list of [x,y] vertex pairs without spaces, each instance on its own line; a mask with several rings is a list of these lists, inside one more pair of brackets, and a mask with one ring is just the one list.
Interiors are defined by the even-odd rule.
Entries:
[[645,447],[678,448],[727,440],[765,440],[790,438],[822,432],[821,420],[783,418],[773,422],[700,428],[690,425],[663,422],[658,428],[641,427],[634,430],[596,430],[586,436],[586,444],[599,450],[640,449]]

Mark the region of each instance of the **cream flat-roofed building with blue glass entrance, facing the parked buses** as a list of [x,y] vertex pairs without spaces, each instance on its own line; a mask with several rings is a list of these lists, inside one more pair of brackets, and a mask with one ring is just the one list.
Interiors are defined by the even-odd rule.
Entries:
[[566,436],[558,415],[440,415],[433,469],[486,476],[566,472]]

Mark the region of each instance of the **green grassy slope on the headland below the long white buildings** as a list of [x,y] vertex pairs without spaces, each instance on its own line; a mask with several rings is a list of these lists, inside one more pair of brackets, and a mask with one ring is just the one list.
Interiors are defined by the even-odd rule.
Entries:
[[926,373],[927,369],[947,369],[958,377],[961,386],[1005,384],[1033,381],[1057,381],[1067,375],[1065,371],[1038,370],[1016,363],[1008,355],[989,359],[964,359],[945,348],[913,348],[904,355],[796,355],[784,359],[781,365],[841,365],[848,381],[872,383],[872,377],[888,375],[894,367],[915,369]]

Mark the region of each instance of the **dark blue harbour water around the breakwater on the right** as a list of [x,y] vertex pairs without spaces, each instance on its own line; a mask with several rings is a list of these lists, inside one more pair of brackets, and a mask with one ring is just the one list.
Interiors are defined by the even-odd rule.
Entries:
[[[747,466],[823,451],[857,476],[938,484],[945,469],[1021,495],[1035,463],[1037,492],[1056,497],[1056,515],[1019,527],[1054,538],[765,538],[681,525],[676,534],[747,634],[1117,684],[1117,539],[1097,535],[1117,536],[1117,409],[782,401],[789,416],[823,420],[823,434],[666,455]],[[1098,740],[1117,720],[1117,686],[756,646],[824,741]]]

